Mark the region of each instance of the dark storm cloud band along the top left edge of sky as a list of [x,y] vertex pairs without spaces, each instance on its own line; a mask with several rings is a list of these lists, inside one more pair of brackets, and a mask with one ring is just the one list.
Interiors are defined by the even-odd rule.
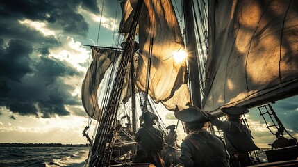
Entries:
[[[16,5],[17,4],[17,5]],[[96,0],[80,1],[9,1],[0,3],[2,17],[10,17],[13,20],[31,19],[39,22],[49,22],[52,26],[60,26],[66,33],[86,35],[88,24],[83,16],[78,13],[78,8],[99,13]]]

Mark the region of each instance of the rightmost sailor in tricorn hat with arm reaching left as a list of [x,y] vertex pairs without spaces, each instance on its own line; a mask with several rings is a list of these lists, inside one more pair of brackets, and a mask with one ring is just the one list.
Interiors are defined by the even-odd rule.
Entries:
[[248,113],[245,107],[231,106],[221,109],[226,113],[226,120],[217,120],[215,116],[208,113],[212,125],[224,132],[226,148],[230,155],[230,166],[250,166],[254,163],[249,158],[249,151],[259,150],[252,140],[251,131],[242,124],[241,115]]

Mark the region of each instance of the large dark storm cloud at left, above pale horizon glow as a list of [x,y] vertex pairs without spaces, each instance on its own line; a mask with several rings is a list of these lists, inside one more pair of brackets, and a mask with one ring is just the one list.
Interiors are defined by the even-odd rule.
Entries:
[[77,96],[72,96],[70,93],[74,90],[74,86],[65,84],[60,77],[83,74],[69,63],[56,58],[41,57],[38,61],[31,60],[28,56],[31,47],[23,43],[17,40],[10,42],[10,45],[17,45],[20,48],[13,53],[10,51],[10,45],[6,49],[1,49],[0,62],[6,64],[0,66],[0,70],[4,71],[0,74],[2,81],[0,89],[6,90],[6,94],[1,95],[0,105],[7,106],[13,113],[21,115],[39,116],[38,112],[42,113],[43,118],[55,114],[69,115],[64,104],[81,103]]

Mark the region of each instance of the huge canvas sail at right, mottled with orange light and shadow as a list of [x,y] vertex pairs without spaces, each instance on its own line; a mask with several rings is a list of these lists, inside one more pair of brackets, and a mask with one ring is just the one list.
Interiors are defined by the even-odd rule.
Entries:
[[210,1],[204,110],[298,93],[298,1]]

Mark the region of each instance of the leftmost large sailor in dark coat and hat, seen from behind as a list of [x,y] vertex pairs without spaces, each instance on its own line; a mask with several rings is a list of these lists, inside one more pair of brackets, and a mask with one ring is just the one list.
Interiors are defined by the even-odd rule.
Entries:
[[158,120],[158,117],[147,111],[144,113],[143,119],[144,125],[135,134],[135,141],[139,143],[140,148],[133,162],[165,166],[163,159],[159,156],[160,151],[163,150],[163,134],[153,126],[154,120]]

